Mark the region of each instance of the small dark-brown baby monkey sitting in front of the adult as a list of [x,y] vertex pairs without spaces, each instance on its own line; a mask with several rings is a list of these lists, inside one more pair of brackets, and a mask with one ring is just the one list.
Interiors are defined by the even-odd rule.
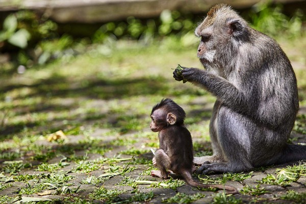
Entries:
[[152,159],[159,170],[152,170],[151,175],[168,178],[168,170],[181,175],[186,183],[193,187],[225,189],[236,194],[232,186],[201,184],[192,177],[193,145],[191,134],[184,125],[185,111],[173,100],[166,98],[152,108],[150,129],[159,132],[160,148]]

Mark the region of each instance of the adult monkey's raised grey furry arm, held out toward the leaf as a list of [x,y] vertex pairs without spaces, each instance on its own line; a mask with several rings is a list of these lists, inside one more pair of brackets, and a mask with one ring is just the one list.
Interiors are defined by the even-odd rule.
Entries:
[[[188,82],[207,89],[227,107],[239,112],[249,110],[246,95],[224,78],[197,68],[184,68],[182,75]],[[180,81],[179,78],[175,80]]]

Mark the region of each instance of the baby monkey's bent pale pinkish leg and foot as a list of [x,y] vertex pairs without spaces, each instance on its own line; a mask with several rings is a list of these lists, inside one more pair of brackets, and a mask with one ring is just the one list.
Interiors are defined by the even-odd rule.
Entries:
[[170,167],[170,158],[165,153],[163,149],[157,149],[155,151],[155,161],[156,161],[156,167],[159,168],[159,171],[152,170],[151,175],[160,177],[161,179],[167,179],[168,178],[168,172],[167,169]]

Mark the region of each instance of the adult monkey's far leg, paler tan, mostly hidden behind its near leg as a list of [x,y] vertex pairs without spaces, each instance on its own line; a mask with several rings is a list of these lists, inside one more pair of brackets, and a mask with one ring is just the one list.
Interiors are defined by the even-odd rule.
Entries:
[[216,100],[214,108],[213,108],[213,114],[211,117],[210,125],[209,125],[209,131],[210,131],[210,138],[212,142],[212,148],[213,148],[213,156],[204,156],[204,157],[194,157],[193,163],[196,165],[202,165],[202,164],[211,164],[216,162],[224,162],[224,157],[222,155],[222,149],[219,144],[219,139],[217,135],[217,129],[218,129],[218,111],[220,108],[220,102]]

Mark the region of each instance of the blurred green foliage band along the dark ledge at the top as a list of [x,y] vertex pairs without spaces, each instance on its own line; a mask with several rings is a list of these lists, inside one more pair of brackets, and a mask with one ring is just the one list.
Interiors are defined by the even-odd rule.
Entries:
[[[303,15],[299,10],[289,17],[283,13],[282,5],[259,3],[247,15],[244,17],[253,28],[273,37],[286,34],[288,38],[294,38],[303,32]],[[13,58],[15,66],[32,67],[52,59],[84,53],[85,45],[91,43],[112,46],[118,39],[140,40],[150,44],[156,39],[170,37],[189,46],[194,43],[193,30],[200,21],[198,16],[202,15],[170,10],[164,10],[159,18],[136,19],[131,16],[123,21],[101,25],[88,40],[74,39],[68,34],[60,35],[57,23],[31,11],[21,10],[4,20],[3,30],[0,31],[0,42],[3,42],[0,43],[0,50],[13,47],[18,53]],[[108,48],[103,49],[107,54]]]

